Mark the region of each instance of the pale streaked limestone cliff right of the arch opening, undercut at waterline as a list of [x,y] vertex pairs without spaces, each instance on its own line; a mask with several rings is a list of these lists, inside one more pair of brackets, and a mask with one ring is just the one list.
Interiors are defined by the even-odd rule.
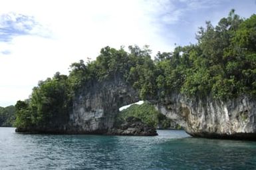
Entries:
[[223,102],[211,97],[190,100],[173,94],[155,106],[192,136],[256,139],[256,100],[248,96]]

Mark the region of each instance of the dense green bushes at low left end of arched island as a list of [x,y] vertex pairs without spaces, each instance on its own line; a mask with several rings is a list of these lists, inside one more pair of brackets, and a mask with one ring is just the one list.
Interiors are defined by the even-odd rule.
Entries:
[[68,118],[70,97],[68,77],[57,72],[53,78],[40,81],[33,88],[31,98],[15,105],[17,118],[15,126],[59,126]]

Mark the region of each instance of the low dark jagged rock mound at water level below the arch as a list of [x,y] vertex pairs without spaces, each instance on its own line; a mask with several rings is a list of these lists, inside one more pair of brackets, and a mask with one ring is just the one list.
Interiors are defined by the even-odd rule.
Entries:
[[158,135],[156,128],[148,126],[139,118],[129,117],[125,122],[108,129],[108,135]]

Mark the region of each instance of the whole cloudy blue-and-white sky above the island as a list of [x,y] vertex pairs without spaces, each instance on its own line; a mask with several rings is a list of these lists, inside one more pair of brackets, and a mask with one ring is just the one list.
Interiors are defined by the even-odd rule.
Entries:
[[2,0],[0,106],[29,98],[39,80],[95,60],[104,46],[149,45],[156,52],[195,43],[205,21],[235,9],[256,13],[255,0]]

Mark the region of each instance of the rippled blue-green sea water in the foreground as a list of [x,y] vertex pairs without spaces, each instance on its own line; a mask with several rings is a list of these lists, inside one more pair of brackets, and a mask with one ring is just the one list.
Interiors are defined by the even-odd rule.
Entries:
[[256,142],[155,137],[31,135],[0,128],[0,169],[256,169]]

